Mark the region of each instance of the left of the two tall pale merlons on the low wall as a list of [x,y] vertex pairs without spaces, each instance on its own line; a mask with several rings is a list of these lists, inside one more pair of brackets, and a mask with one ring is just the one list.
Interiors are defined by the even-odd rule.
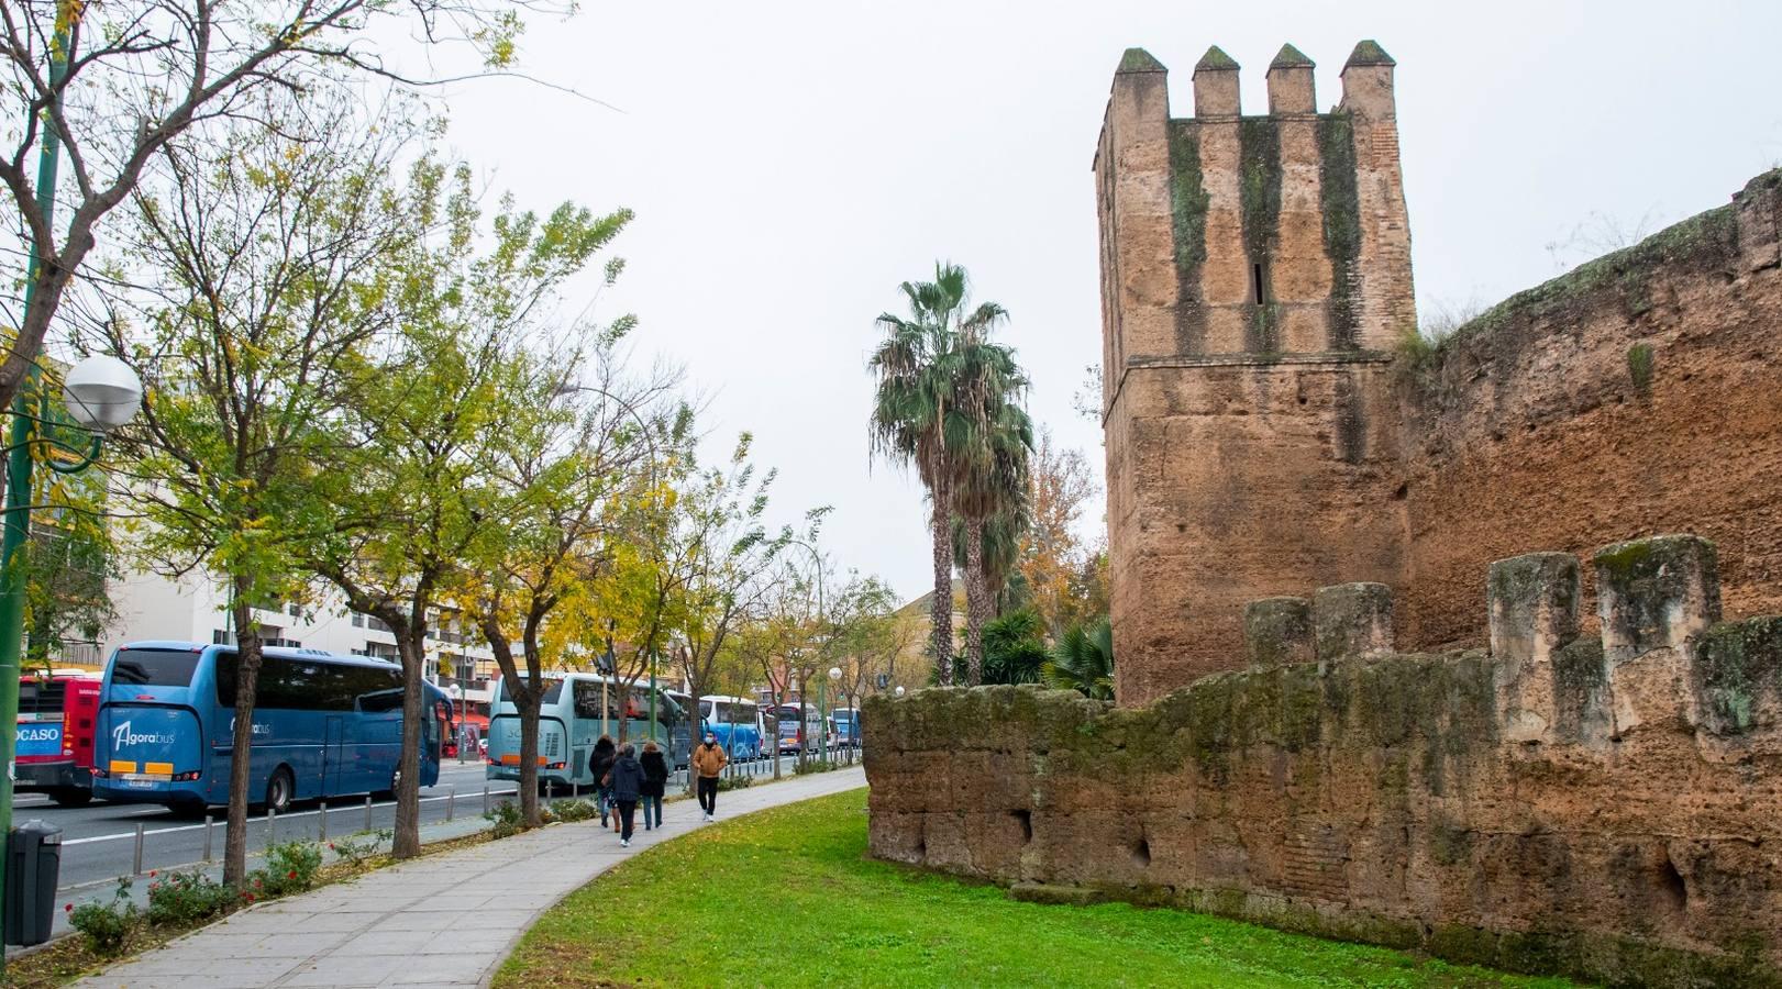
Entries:
[[1570,552],[1492,563],[1486,581],[1499,709],[1516,741],[1545,740],[1557,720],[1554,652],[1577,638],[1579,567]]

